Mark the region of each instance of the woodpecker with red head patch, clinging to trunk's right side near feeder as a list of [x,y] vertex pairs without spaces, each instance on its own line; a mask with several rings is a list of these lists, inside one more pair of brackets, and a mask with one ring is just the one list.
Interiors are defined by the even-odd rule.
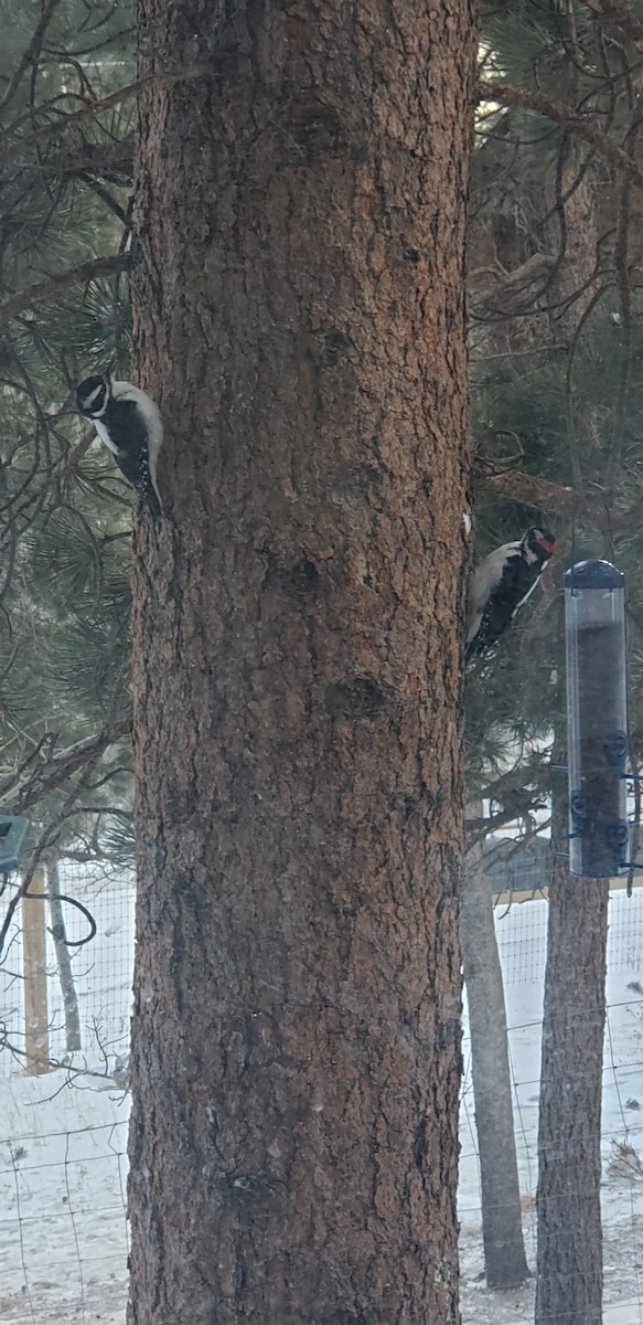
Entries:
[[554,545],[548,529],[532,526],[517,543],[503,543],[476,566],[468,588],[467,661],[495,644],[511,625],[536,588]]

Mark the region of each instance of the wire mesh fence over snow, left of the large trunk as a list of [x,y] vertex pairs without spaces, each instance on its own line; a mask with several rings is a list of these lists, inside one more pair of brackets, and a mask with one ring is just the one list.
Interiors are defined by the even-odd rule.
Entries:
[[[0,967],[0,1318],[122,1325],[134,878],[74,861],[61,861],[58,873],[60,892],[83,905],[97,931],[66,947],[65,973],[46,900],[21,904],[8,935]],[[87,917],[64,904],[64,928],[71,945],[82,941]]]

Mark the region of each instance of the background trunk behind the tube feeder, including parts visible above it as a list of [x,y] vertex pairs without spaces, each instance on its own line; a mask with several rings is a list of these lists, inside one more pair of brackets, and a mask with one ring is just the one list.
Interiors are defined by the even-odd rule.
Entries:
[[[564,258],[549,298],[554,341],[574,344],[597,288],[597,193],[590,172],[561,174],[557,228]],[[566,200],[562,203],[565,195]],[[556,307],[558,305],[558,307]],[[569,433],[573,485],[582,492],[579,435]],[[562,625],[562,623],[561,623]],[[564,755],[556,742],[554,762]],[[552,849],[566,841],[568,798],[552,798]],[[601,1104],[609,880],[578,878],[552,856],[538,1112],[536,1325],[601,1325]]]

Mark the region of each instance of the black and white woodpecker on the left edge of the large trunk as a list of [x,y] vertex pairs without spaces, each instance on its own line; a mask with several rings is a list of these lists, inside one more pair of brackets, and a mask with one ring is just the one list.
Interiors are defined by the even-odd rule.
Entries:
[[153,400],[131,382],[114,382],[108,374],[81,382],[75,400],[153,518],[161,519],[156,464],[163,444],[163,420]]

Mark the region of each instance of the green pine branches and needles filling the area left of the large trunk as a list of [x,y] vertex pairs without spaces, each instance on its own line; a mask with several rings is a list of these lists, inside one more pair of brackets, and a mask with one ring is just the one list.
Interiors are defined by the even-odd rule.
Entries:
[[98,856],[131,799],[130,500],[66,412],[79,374],[128,354],[131,15],[1,17],[0,798],[37,852]]

